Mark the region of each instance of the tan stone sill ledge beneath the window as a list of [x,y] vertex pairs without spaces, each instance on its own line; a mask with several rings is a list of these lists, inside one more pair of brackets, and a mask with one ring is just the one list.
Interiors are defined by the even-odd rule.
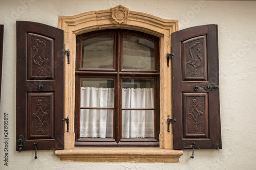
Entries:
[[160,148],[74,148],[57,150],[61,161],[82,162],[179,162],[183,151]]

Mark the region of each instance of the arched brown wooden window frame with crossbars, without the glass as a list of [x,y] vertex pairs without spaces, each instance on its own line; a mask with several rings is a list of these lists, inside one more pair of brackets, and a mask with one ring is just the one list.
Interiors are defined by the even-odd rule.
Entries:
[[[114,62],[113,69],[111,68],[82,68],[82,41],[101,36],[114,35]],[[123,35],[132,35],[144,38],[154,42],[154,58],[155,69],[122,69],[122,49]],[[75,146],[86,147],[158,147],[159,146],[159,38],[131,30],[102,30],[90,32],[76,36],[76,90],[75,90]],[[100,57],[98,58],[100,59]],[[88,73],[90,76],[88,76]],[[81,78],[113,78],[114,89],[114,119],[113,119],[113,138],[80,138],[80,86]],[[146,109],[122,109],[122,80],[123,79],[151,79],[154,80],[154,138],[129,138],[122,139],[122,110],[146,110]],[[91,109],[91,108],[89,108]],[[94,108],[99,109],[99,108]],[[104,108],[106,109],[106,108]]]

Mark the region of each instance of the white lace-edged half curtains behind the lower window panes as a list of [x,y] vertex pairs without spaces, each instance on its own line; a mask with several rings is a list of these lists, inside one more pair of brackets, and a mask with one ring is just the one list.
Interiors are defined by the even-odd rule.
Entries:
[[[81,107],[114,107],[114,89],[81,87]],[[154,108],[153,88],[122,89],[122,108]],[[81,109],[80,137],[112,138],[112,109]],[[122,138],[154,137],[154,110],[123,110]]]

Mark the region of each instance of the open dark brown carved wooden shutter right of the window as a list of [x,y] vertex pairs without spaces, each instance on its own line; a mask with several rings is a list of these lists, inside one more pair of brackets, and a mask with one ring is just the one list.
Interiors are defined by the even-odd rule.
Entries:
[[221,149],[217,25],[172,34],[174,149]]

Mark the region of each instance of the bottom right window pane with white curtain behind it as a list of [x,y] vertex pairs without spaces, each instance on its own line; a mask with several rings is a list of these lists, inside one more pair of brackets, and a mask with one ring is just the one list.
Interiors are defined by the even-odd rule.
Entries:
[[122,138],[154,138],[154,110],[123,110]]

